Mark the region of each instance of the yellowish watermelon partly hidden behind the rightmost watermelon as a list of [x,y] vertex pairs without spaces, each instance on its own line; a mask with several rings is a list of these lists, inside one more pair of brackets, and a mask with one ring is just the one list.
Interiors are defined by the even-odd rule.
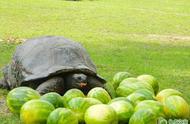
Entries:
[[156,100],[163,103],[167,97],[172,96],[172,95],[178,95],[178,96],[183,97],[183,94],[181,92],[179,92],[178,90],[164,89],[156,95]]

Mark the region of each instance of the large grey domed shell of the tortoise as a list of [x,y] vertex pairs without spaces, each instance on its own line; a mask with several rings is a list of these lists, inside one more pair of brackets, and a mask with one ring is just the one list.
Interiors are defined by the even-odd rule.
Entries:
[[82,72],[105,82],[97,75],[96,66],[82,45],[61,36],[25,41],[16,48],[11,64],[4,69],[8,83],[16,82],[15,87],[22,82],[67,72]]

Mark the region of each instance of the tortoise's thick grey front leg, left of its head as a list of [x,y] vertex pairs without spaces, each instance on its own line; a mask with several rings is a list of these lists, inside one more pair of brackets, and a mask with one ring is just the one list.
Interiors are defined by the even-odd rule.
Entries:
[[59,94],[64,93],[64,79],[62,77],[53,77],[42,84],[36,89],[40,94],[48,92],[57,92]]

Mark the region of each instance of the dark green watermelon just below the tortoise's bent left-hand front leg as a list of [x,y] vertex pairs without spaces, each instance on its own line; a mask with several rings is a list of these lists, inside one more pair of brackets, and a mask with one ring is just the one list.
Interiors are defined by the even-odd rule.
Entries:
[[40,99],[50,102],[55,108],[63,107],[62,97],[56,92],[44,94]]

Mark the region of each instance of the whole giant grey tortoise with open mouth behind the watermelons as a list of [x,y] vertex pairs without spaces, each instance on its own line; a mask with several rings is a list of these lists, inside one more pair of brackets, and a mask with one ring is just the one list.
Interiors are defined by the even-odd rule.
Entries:
[[106,83],[97,75],[96,66],[82,45],[61,36],[25,41],[17,47],[3,74],[0,87],[29,86],[41,94],[53,91],[63,94],[71,88],[87,93]]

